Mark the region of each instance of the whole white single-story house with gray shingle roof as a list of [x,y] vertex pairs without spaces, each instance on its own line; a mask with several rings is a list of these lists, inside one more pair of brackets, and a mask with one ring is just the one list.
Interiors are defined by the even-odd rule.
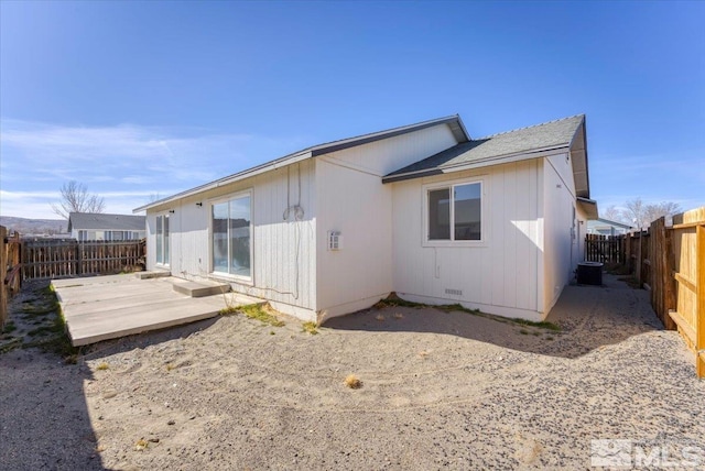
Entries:
[[322,321],[390,292],[545,318],[584,253],[585,117],[470,139],[458,116],[308,147],[137,208],[148,270]]

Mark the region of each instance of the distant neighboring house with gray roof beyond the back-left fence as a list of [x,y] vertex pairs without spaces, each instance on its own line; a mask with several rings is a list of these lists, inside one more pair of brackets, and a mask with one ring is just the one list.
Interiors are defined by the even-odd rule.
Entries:
[[68,232],[79,241],[139,240],[147,230],[144,216],[72,212],[68,215]]

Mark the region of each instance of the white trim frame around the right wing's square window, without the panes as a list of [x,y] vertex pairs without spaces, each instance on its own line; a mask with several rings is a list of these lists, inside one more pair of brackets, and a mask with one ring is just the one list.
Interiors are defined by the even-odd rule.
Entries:
[[[451,240],[430,240],[429,239],[429,191],[434,189],[448,188],[451,190],[451,197],[453,197],[453,187],[458,185],[469,185],[474,183],[480,184],[480,240],[454,240],[455,238],[455,205],[451,205],[451,220],[453,226],[451,228]],[[421,186],[422,197],[422,223],[421,223],[421,245],[422,247],[487,247],[488,243],[488,228],[489,228],[489,211],[488,208],[488,184],[487,179],[482,177],[469,177],[458,178],[453,180],[430,183]]]

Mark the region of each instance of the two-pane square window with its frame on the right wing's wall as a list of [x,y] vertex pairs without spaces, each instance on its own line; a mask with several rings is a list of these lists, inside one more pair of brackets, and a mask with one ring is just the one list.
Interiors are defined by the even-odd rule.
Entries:
[[482,182],[426,188],[426,240],[482,240]]

